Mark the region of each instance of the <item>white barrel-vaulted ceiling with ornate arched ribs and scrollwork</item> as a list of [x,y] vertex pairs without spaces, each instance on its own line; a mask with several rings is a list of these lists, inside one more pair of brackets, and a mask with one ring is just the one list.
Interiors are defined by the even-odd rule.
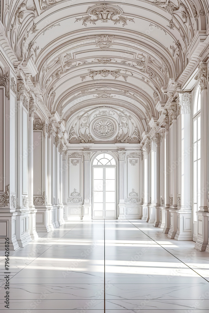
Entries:
[[81,119],[108,107],[130,116],[141,138],[159,117],[158,101],[167,100],[162,87],[170,78],[180,84],[191,41],[209,18],[206,0],[7,0],[3,5],[16,72],[30,59],[37,71],[28,80],[37,98],[49,116],[57,112],[69,136],[76,115]]

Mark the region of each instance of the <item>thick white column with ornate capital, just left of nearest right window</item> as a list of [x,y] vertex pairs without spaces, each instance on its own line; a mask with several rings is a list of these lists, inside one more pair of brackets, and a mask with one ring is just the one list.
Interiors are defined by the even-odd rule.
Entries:
[[191,234],[191,94],[179,93],[177,232],[174,239],[192,240]]

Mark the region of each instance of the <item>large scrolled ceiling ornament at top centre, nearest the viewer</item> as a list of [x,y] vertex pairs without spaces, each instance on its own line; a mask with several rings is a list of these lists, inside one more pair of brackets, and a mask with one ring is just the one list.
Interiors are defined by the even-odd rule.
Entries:
[[83,21],[84,26],[87,26],[87,23],[96,24],[98,21],[102,23],[108,23],[109,21],[114,22],[115,24],[122,23],[123,26],[127,25],[127,21],[133,22],[133,18],[127,18],[123,16],[123,10],[118,5],[112,4],[97,4],[93,7],[89,7],[86,11],[87,15],[82,18],[76,18],[75,22]]

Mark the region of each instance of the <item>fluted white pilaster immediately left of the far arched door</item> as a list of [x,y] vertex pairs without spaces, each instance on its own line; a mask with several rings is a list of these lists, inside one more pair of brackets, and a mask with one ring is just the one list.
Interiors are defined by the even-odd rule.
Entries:
[[91,152],[84,151],[84,203],[83,203],[83,219],[90,220],[92,216],[92,199],[90,195],[90,157]]

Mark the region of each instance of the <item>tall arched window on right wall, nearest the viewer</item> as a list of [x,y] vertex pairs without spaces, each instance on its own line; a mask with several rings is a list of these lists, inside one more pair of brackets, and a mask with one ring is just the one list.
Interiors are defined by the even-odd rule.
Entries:
[[200,86],[195,95],[193,107],[193,218],[197,221],[196,211],[200,207],[201,198],[201,96]]

